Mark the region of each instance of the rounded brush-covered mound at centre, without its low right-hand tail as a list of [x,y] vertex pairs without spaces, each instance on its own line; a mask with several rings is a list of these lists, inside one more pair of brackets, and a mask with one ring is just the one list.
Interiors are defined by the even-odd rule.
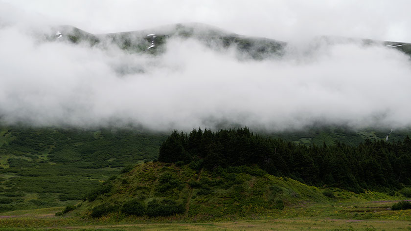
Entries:
[[87,195],[73,213],[91,217],[179,214],[189,219],[266,215],[299,201],[326,201],[320,189],[258,167],[196,171],[160,162],[137,165]]

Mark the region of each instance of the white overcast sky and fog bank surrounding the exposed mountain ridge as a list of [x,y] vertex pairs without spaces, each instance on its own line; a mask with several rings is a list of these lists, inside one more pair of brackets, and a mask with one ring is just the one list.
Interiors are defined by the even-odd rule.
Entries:
[[[310,40],[411,42],[409,9],[405,0],[0,0],[0,121],[155,130],[410,126],[410,56],[382,43]],[[192,21],[292,43],[281,58],[240,61],[235,47],[194,39],[171,39],[157,56],[41,39],[47,25],[106,33]]]

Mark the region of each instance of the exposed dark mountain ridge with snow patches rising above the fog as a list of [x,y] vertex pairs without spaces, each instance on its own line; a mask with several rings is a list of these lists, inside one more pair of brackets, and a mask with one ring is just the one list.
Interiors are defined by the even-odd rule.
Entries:
[[[72,43],[86,42],[92,46],[108,46],[115,44],[129,52],[160,54],[165,51],[165,44],[171,38],[195,39],[211,48],[228,48],[235,46],[239,52],[252,59],[265,59],[267,57],[281,56],[288,45],[287,42],[273,39],[258,38],[238,35],[223,29],[203,23],[176,23],[159,26],[151,29],[97,34],[85,32],[72,26],[53,27],[56,34],[48,34],[49,41],[69,41]],[[60,37],[60,34],[62,37]],[[60,38],[59,38],[60,37]],[[402,51],[411,55],[411,44],[406,42],[381,42],[369,39],[350,39],[322,36],[315,43],[360,43],[363,45],[379,44],[387,48]]]

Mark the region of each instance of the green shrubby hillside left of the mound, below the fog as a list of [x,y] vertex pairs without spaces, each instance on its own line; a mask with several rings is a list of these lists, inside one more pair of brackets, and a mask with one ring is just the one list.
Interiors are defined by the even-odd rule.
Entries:
[[131,129],[3,126],[0,211],[78,201],[125,166],[156,159],[164,139]]

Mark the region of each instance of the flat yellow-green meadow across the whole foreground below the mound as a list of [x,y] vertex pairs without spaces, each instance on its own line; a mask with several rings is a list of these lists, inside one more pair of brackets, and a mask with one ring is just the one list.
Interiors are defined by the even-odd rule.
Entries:
[[411,210],[389,210],[396,201],[301,204],[267,217],[195,222],[181,217],[147,220],[141,217],[80,218],[63,208],[0,213],[0,231],[100,230],[100,231],[410,231]]

